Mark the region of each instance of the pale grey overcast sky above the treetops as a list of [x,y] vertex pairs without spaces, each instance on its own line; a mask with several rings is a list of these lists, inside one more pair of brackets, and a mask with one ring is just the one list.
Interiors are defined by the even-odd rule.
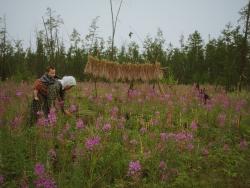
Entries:
[[[120,0],[112,0],[114,13]],[[115,45],[131,41],[142,46],[146,36],[155,37],[158,28],[166,44],[179,46],[180,36],[186,41],[197,30],[206,42],[218,38],[229,22],[237,24],[240,9],[248,0],[124,0],[117,23]],[[42,17],[50,7],[64,21],[60,36],[69,46],[75,28],[83,37],[99,16],[98,35],[106,41],[112,34],[110,0],[0,0],[0,17],[6,17],[9,39],[22,40],[27,48],[35,47],[35,32],[43,29]],[[129,37],[129,32],[133,32]]]

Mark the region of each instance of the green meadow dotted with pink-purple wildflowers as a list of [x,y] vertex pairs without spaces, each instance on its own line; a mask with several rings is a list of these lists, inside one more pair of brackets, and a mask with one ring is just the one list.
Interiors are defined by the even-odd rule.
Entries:
[[31,85],[0,83],[0,187],[250,187],[249,92],[97,86],[30,126]]

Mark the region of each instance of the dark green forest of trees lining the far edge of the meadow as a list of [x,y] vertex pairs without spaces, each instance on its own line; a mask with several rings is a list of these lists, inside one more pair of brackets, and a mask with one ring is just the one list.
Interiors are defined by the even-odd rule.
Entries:
[[21,81],[39,77],[48,65],[53,64],[60,75],[75,75],[78,80],[89,80],[83,74],[88,55],[117,63],[155,63],[166,67],[164,80],[179,84],[212,84],[228,91],[242,87],[249,89],[249,6],[239,12],[236,26],[228,23],[220,36],[204,42],[199,31],[187,39],[180,36],[180,47],[166,44],[160,28],[154,36],[148,35],[142,47],[135,41],[121,47],[112,46],[112,37],[98,36],[98,19],[92,20],[89,33],[81,36],[74,29],[70,45],[65,46],[59,33],[64,24],[62,16],[47,8],[41,18],[44,29],[35,33],[35,48],[23,48],[22,41],[8,35],[6,18],[0,25],[0,77]]

